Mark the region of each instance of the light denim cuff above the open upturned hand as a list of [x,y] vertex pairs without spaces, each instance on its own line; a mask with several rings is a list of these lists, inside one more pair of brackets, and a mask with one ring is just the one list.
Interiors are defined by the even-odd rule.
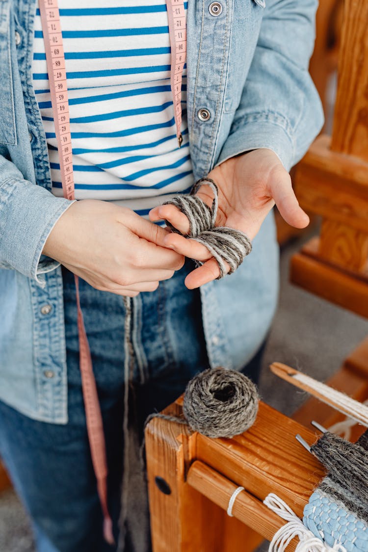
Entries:
[[290,132],[282,126],[282,118],[278,121],[262,120],[253,116],[252,119],[243,121],[227,138],[218,157],[216,166],[230,157],[245,153],[249,150],[267,148],[279,157],[287,172],[290,171],[294,158],[294,141]]

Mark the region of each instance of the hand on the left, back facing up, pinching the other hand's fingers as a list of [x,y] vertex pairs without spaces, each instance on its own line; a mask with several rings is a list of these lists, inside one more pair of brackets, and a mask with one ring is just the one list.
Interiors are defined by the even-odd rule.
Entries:
[[168,232],[130,209],[85,199],[63,213],[42,253],[96,289],[133,297],[182,268],[184,257],[165,247]]

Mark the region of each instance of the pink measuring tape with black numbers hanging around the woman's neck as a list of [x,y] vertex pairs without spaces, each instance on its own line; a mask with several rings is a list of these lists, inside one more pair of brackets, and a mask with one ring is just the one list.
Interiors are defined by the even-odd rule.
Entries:
[[[174,117],[179,147],[183,137],[180,132],[182,123],[182,75],[186,57],[186,22],[183,0],[166,0],[169,19],[171,46],[170,84],[173,94]],[[74,178],[72,163],[72,139],[70,114],[63,50],[60,13],[57,0],[39,0],[42,31],[44,34],[47,72],[49,73],[52,113],[54,115],[55,135],[60,162],[61,182],[65,198],[74,199]],[[97,489],[104,516],[104,537],[113,544],[113,524],[108,510],[106,447],[103,432],[102,415],[98,402],[97,388],[93,375],[92,360],[88,346],[83,314],[79,301],[79,282],[76,283],[78,309],[79,365],[82,375],[82,389],[90,452],[97,479]]]

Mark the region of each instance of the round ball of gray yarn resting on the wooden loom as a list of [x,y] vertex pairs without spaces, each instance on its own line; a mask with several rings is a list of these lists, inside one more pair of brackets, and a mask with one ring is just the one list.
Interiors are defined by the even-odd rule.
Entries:
[[189,381],[183,413],[194,431],[207,437],[233,437],[253,425],[258,401],[257,387],[247,376],[215,368]]

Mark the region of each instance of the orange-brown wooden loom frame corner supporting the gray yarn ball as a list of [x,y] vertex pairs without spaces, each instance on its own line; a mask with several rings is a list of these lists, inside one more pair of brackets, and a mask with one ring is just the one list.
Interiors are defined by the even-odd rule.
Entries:
[[[180,416],[182,399],[164,413]],[[297,433],[308,443],[316,440],[310,429],[262,402],[254,426],[232,439],[211,439],[153,418],[145,434],[153,551],[253,550],[285,524],[262,502],[270,492],[302,516],[323,469],[296,441]],[[245,491],[229,517],[238,486]]]

